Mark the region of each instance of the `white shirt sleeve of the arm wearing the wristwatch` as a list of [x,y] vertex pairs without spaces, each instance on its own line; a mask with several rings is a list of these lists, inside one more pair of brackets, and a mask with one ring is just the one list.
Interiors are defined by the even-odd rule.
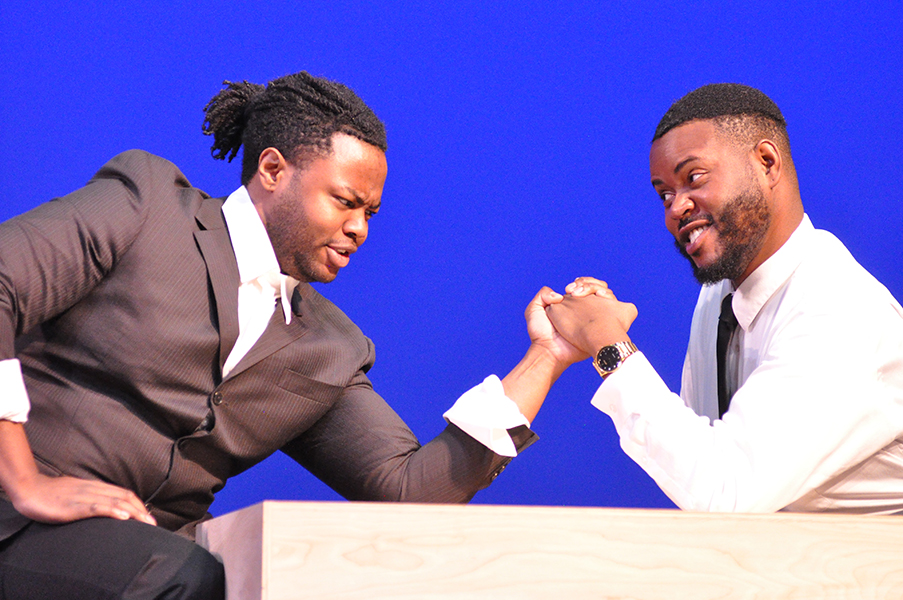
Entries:
[[611,416],[624,451],[679,507],[777,511],[903,431],[899,390],[876,367],[878,349],[899,353],[900,319],[881,314],[889,319],[865,323],[833,309],[789,319],[761,349],[722,420],[688,408],[642,354],[627,359],[592,402]]

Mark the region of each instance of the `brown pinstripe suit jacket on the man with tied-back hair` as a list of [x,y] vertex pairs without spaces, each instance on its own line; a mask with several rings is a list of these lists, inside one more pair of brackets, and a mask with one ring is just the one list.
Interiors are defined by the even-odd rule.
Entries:
[[[188,535],[229,477],[279,449],[349,499],[466,502],[487,486],[510,459],[455,426],[421,447],[367,379],[370,340],[307,284],[291,324],[276,311],[222,380],[239,282],[222,202],[133,150],[0,225],[0,358],[22,362],[40,468],[131,489]],[[3,539],[27,521],[0,504]]]

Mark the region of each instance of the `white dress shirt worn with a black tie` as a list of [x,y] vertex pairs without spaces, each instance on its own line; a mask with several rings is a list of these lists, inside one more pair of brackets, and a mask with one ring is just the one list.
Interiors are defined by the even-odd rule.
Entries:
[[715,342],[730,282],[705,286],[681,395],[642,355],[593,397],[624,451],[681,508],[903,510],[903,309],[804,217],[735,291],[737,391],[718,415]]

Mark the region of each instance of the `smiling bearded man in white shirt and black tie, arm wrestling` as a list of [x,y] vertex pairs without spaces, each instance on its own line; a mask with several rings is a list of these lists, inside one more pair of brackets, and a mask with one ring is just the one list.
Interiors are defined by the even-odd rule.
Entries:
[[592,403],[621,447],[683,509],[903,510],[903,309],[803,212],[778,107],[699,88],[662,118],[650,169],[703,284],[680,396],[627,335],[633,305],[585,295],[604,283],[547,311],[596,357]]

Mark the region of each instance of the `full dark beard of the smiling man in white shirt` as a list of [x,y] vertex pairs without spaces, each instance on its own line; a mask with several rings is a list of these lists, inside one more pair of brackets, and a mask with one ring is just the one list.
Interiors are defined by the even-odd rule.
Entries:
[[717,221],[710,217],[710,223],[718,232],[721,244],[721,255],[712,264],[698,267],[680,242],[674,240],[674,245],[690,261],[693,275],[700,284],[708,285],[724,279],[735,281],[759,253],[768,233],[771,211],[765,194],[753,182],[747,190],[724,205]]

